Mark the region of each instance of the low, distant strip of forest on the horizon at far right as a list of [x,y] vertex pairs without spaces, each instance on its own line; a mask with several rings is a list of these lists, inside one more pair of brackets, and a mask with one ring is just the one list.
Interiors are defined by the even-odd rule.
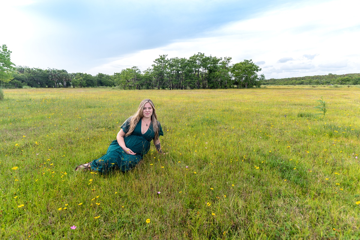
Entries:
[[316,75],[295,78],[280,78],[263,80],[263,85],[358,85],[360,84],[360,73],[336,75],[329,73],[328,75]]

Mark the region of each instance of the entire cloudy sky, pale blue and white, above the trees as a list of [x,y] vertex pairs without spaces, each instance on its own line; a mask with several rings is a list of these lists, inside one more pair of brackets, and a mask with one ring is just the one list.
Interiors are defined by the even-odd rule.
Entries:
[[16,65],[113,74],[158,55],[252,59],[268,78],[360,72],[358,0],[0,0]]

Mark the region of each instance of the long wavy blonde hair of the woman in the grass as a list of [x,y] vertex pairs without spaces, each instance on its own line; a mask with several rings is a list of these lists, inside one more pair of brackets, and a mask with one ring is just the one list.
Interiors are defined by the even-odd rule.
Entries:
[[138,111],[133,116],[129,117],[129,119],[130,119],[129,131],[125,134],[125,137],[132,134],[132,132],[135,129],[136,124],[138,124],[140,119],[144,116],[143,115],[143,109],[144,109],[144,106],[145,106],[146,103],[150,103],[150,105],[153,108],[153,114],[151,115],[151,121],[153,123],[153,130],[155,132],[154,139],[157,140],[159,138],[159,124],[158,124],[158,121],[157,121],[157,114],[156,114],[156,111],[155,111],[154,103],[150,99],[144,99],[143,101],[141,101]]

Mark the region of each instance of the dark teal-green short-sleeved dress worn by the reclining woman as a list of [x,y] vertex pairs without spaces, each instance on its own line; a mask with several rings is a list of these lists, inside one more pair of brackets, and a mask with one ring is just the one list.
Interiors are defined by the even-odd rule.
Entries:
[[[129,131],[130,119],[127,119],[125,123],[121,126],[122,130],[127,133]],[[159,124],[159,136],[163,136],[162,128]],[[150,149],[150,141],[155,137],[153,123],[150,123],[149,129],[146,133],[141,133],[141,119],[139,123],[136,124],[134,131],[131,135],[124,137],[125,146],[130,148],[131,151],[136,153],[136,155],[127,154],[118,144],[117,140],[113,140],[110,144],[106,154],[99,159],[96,159],[91,162],[91,170],[102,172],[107,174],[109,171],[114,169],[120,169],[122,172],[126,172],[143,158],[145,154],[148,153]]]

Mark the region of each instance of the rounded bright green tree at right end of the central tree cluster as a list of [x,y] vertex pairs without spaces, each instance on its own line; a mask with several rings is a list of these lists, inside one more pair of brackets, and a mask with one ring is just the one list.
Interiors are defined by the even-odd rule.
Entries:
[[261,81],[257,75],[259,71],[261,71],[261,68],[253,63],[251,59],[235,63],[231,67],[234,85],[237,85],[238,88],[260,87]]

